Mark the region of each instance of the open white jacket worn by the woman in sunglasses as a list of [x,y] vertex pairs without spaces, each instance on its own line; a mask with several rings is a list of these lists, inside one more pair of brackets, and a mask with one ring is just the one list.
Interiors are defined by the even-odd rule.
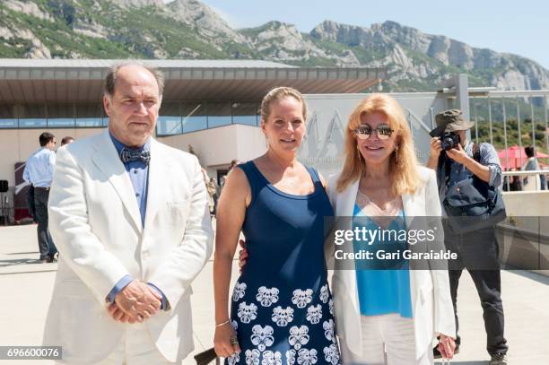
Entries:
[[[439,190],[435,172],[424,167],[418,167],[418,169],[425,185],[414,196],[402,196],[405,216],[440,216]],[[328,196],[334,207],[335,216],[352,217],[359,181],[338,193],[335,190],[338,178],[339,174],[336,174],[328,182]],[[405,222],[409,228],[410,220]],[[330,255],[333,257],[333,249],[327,248],[328,260]],[[416,357],[419,358],[435,335],[443,334],[455,338],[456,324],[449,291],[448,271],[411,270],[410,286]],[[344,338],[350,351],[362,356],[361,312],[355,271],[335,270],[332,277],[332,292],[336,333]]]

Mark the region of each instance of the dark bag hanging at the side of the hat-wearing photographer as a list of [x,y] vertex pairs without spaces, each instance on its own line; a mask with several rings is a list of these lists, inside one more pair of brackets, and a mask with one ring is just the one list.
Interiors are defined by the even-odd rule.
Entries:
[[[473,157],[480,162],[477,143],[473,145]],[[500,189],[475,175],[449,187],[442,204],[449,215],[449,225],[456,233],[493,227],[507,218]]]

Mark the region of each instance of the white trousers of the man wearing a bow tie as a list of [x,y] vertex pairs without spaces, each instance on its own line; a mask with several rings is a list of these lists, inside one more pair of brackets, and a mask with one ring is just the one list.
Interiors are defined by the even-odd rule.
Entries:
[[156,348],[149,330],[143,323],[126,325],[127,329],[117,347],[96,365],[165,365],[166,360]]

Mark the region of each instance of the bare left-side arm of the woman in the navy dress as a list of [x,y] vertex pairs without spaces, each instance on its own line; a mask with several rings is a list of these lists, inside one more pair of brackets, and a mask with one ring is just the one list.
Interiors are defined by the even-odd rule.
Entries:
[[229,285],[231,283],[232,258],[236,251],[240,229],[251,200],[251,189],[246,174],[233,169],[226,179],[217,207],[215,254],[213,257],[213,295],[215,299],[215,327],[213,343],[219,356],[229,357],[240,352],[231,345],[234,330],[229,317]]

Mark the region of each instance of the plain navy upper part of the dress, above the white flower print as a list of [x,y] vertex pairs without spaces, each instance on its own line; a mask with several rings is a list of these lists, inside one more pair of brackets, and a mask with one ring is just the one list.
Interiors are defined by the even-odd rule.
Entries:
[[317,171],[306,167],[314,192],[295,196],[274,187],[253,161],[239,167],[246,173],[252,196],[242,225],[250,257],[243,278],[250,280],[249,272],[261,272],[266,277],[310,282],[326,274],[320,248],[325,238],[324,217],[333,216],[334,211]]

